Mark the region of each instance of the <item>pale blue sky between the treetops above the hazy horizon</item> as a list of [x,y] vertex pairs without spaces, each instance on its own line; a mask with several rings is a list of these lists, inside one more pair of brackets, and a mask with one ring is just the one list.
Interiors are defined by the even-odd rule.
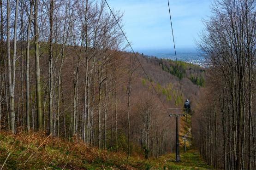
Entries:
[[[169,0],[177,48],[195,48],[210,0]],[[108,0],[124,12],[124,30],[136,51],[173,48],[167,0]],[[128,50],[128,49],[127,49]]]

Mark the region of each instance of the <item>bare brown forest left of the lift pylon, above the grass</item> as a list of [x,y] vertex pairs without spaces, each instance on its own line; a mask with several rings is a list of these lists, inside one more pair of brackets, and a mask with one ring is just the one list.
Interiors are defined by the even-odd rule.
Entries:
[[[104,1],[1,0],[0,7],[0,130],[43,131],[128,156],[174,152],[167,108],[183,107],[178,78],[197,99],[189,76],[202,77],[201,68],[181,62],[188,73],[180,77],[162,70],[171,61],[125,52]],[[122,13],[114,16],[122,23]]]

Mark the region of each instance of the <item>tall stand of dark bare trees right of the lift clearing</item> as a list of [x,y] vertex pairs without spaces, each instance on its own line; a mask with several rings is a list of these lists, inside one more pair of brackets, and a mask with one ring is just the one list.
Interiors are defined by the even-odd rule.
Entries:
[[216,0],[212,13],[199,43],[210,67],[195,143],[215,168],[256,169],[256,2]]

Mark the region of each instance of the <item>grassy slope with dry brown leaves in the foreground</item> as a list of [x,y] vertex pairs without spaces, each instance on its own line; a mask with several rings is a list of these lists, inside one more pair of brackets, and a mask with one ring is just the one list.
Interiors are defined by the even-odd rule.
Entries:
[[99,151],[82,143],[47,137],[1,132],[0,167],[10,153],[4,169],[211,169],[194,149],[181,153],[182,162],[175,163],[174,153],[157,159],[127,159],[125,153]]

